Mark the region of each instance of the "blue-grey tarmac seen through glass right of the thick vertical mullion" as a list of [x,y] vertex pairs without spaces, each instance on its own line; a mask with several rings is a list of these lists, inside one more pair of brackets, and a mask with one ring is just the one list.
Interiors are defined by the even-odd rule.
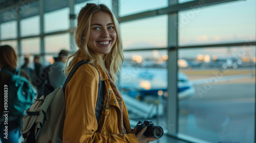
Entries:
[[[201,85],[201,88],[203,85]],[[195,88],[200,87],[200,85]],[[181,133],[209,142],[254,142],[255,84],[218,84],[180,101]]]

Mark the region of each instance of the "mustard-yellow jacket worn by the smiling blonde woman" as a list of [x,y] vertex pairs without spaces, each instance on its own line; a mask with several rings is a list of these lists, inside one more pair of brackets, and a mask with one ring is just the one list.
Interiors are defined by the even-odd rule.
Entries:
[[[82,57],[79,57],[77,62],[80,60],[83,60]],[[98,70],[101,81],[105,83],[104,106],[98,124],[95,107],[99,75],[95,67],[83,64],[76,70],[66,87],[67,107],[63,142],[138,142],[136,135],[132,134],[124,101],[123,122],[127,134],[121,134],[121,114],[118,102],[108,76],[99,68]]]

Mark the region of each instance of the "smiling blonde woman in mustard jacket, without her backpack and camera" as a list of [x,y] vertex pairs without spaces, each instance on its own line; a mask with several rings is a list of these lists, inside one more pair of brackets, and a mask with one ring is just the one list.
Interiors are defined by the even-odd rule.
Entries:
[[[137,135],[132,133],[125,103],[115,85],[124,59],[120,37],[118,22],[108,7],[87,4],[80,10],[75,36],[79,49],[68,58],[72,60],[66,69],[69,74],[81,60],[90,64],[81,65],[66,86],[63,141],[150,142],[157,139],[145,137],[146,128]],[[103,91],[99,83],[103,84]]]

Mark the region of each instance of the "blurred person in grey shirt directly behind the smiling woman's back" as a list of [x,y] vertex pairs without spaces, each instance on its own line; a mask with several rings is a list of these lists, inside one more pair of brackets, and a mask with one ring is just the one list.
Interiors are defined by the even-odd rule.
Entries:
[[44,69],[44,72],[42,72],[40,76],[44,83],[52,85],[55,89],[63,86],[66,76],[63,74],[62,70],[65,67],[65,61],[68,55],[68,51],[61,50],[58,57],[54,58],[55,62]]

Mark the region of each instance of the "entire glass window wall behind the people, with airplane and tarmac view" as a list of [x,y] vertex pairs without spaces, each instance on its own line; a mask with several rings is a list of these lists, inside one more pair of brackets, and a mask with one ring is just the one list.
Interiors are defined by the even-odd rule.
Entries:
[[150,120],[153,142],[255,142],[255,0],[2,0],[0,44],[18,67],[78,50],[79,10],[105,4],[120,24],[118,90],[131,126]]

